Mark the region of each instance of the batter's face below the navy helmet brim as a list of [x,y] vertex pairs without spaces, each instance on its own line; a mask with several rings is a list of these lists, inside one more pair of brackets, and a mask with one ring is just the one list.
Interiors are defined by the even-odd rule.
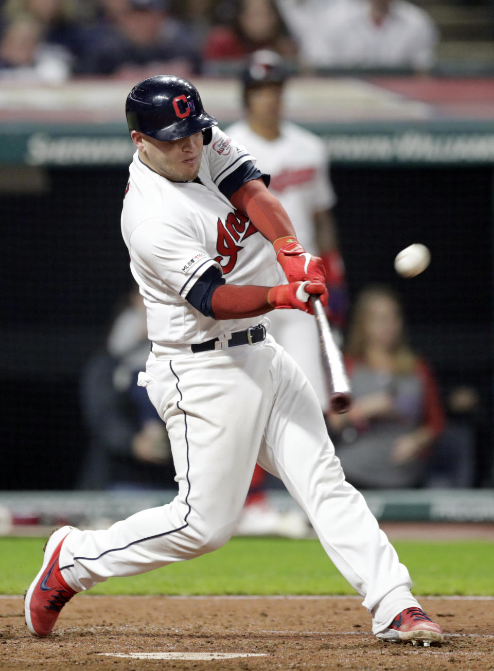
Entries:
[[138,146],[141,158],[150,168],[172,182],[195,179],[201,166],[203,134],[163,142],[132,131],[132,140]]

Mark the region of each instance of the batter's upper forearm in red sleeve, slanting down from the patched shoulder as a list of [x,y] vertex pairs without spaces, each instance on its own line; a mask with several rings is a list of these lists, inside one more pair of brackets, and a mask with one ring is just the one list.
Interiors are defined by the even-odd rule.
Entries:
[[246,182],[232,195],[230,201],[248,215],[256,229],[270,242],[295,236],[295,229],[285,208],[269,193],[261,179]]

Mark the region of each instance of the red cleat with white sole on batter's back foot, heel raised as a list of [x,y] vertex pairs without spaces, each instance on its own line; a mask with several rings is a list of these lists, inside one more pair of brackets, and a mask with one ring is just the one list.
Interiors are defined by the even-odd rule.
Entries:
[[40,572],[30,584],[24,597],[24,614],[31,633],[48,636],[60,611],[77,593],[62,578],[58,566],[60,548],[65,537],[74,527],[61,527],[54,531],[46,546]]

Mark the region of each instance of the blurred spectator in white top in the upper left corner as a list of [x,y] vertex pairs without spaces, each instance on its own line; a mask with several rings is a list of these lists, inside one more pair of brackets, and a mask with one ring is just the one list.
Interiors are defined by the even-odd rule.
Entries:
[[0,77],[61,84],[70,74],[70,54],[44,41],[42,25],[29,15],[7,24],[0,40]]

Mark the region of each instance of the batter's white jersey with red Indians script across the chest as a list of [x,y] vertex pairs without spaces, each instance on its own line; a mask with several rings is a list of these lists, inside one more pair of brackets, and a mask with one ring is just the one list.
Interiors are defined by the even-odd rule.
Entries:
[[216,321],[187,301],[211,266],[221,268],[230,284],[271,287],[283,282],[273,245],[225,195],[242,185],[242,166],[252,164],[256,160],[217,127],[203,148],[193,182],[163,178],[134,154],[121,228],[144,297],[153,351],[176,351],[180,344],[219,338],[258,323],[259,317]]

